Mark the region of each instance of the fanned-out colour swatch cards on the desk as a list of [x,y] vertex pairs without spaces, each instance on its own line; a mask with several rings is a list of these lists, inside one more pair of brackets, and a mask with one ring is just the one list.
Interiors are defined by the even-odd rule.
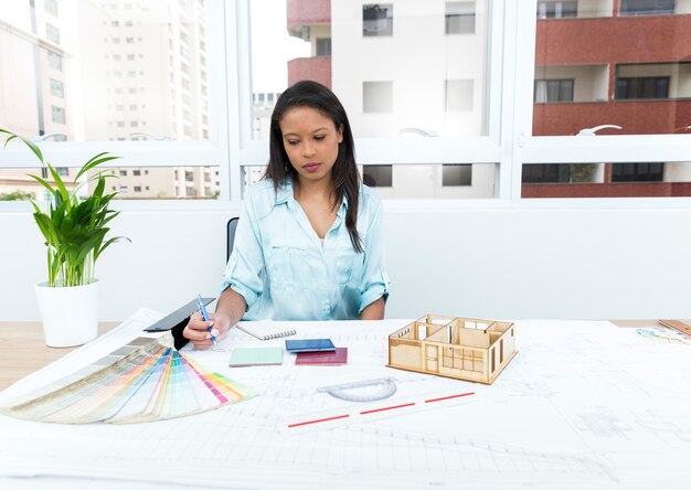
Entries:
[[170,334],[135,339],[0,412],[38,422],[131,424],[206,412],[252,396],[249,387],[206,372],[171,341]]

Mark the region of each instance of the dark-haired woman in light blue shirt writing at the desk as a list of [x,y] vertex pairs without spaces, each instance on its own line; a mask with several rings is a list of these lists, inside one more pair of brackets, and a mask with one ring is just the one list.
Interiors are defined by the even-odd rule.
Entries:
[[323,85],[298,82],[272,114],[269,164],[245,196],[215,313],[192,316],[184,338],[206,349],[241,319],[384,318],[382,233],[343,106]]

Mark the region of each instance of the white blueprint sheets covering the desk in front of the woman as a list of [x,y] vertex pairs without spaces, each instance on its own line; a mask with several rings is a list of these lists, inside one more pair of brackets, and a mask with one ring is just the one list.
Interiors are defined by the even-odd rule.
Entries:
[[[124,326],[0,394],[59,379],[140,334]],[[189,355],[244,382],[254,398],[174,420],[53,425],[0,416],[0,488],[691,488],[691,345],[669,345],[606,321],[517,321],[518,355],[490,386],[385,368],[386,335],[408,320],[275,322],[349,348],[344,366],[226,366],[220,351]],[[266,324],[254,326],[266,328]],[[394,377],[386,401],[475,393],[447,406],[290,433],[290,422],[352,411],[318,387]],[[364,405],[363,405],[364,406]],[[359,407],[357,407],[359,408]],[[390,416],[391,415],[391,416]],[[312,418],[309,418],[312,417]],[[20,478],[31,477],[31,478]],[[129,488],[129,487],[128,487]]]

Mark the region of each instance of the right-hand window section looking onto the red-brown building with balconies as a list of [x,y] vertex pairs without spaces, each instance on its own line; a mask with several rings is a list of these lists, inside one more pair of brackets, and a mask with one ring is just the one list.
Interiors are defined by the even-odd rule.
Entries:
[[[691,32],[691,11],[665,0],[567,3],[538,1],[521,196],[691,195],[682,34]],[[588,19],[554,20],[564,17]]]

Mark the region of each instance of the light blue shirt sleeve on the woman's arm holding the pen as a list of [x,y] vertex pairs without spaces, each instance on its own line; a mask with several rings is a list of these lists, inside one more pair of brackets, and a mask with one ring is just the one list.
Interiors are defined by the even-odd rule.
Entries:
[[243,298],[249,309],[264,289],[264,252],[262,237],[251,200],[245,200],[240,213],[233,253],[225,267],[221,291],[228,286]]

